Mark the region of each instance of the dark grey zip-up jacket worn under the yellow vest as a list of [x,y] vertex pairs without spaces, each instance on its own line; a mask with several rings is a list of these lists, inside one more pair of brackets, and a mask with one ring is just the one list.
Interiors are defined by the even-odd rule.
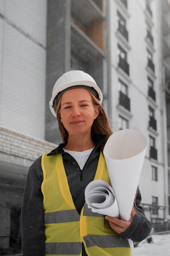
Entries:
[[[52,150],[48,155],[62,154],[64,168],[68,179],[73,202],[78,213],[81,212],[85,203],[84,190],[89,182],[95,177],[97,164],[100,155],[100,145],[106,138],[106,135],[94,135],[92,137],[95,148],[88,157],[83,170],[80,170],[75,159],[65,153],[63,147],[65,144],[60,144]],[[24,197],[21,213],[21,230],[22,230],[22,252],[23,256],[44,256],[44,209],[43,195],[41,184],[43,181],[43,173],[41,167],[41,157],[39,157],[30,166],[26,179]],[[122,190],[122,193],[126,191]],[[141,202],[141,194],[138,190],[135,209],[138,214],[132,220],[128,229],[121,234],[123,239],[132,239],[133,241],[141,241],[145,239],[151,230],[151,224],[144,215],[144,209],[139,205]],[[83,248],[83,256],[86,255]]]

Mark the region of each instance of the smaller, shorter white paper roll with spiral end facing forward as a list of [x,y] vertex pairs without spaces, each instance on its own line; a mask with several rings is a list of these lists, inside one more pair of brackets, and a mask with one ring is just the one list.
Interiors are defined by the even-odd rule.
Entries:
[[119,218],[119,209],[113,188],[103,180],[90,182],[85,189],[85,200],[93,212]]

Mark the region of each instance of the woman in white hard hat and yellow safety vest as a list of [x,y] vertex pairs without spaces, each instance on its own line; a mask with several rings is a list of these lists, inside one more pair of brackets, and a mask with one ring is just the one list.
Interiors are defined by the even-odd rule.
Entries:
[[63,143],[29,169],[21,217],[23,256],[130,256],[128,239],[139,242],[150,233],[139,190],[129,222],[93,213],[85,203],[89,182],[99,177],[110,182],[102,150],[113,132],[102,99],[95,80],[82,71],[66,72],[55,83],[50,109]]

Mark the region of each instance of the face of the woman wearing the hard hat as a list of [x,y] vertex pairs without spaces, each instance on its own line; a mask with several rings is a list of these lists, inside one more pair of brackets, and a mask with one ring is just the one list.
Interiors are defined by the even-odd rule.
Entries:
[[93,105],[90,92],[82,88],[71,89],[62,95],[60,105],[61,122],[68,135],[85,135],[91,132],[99,108]]

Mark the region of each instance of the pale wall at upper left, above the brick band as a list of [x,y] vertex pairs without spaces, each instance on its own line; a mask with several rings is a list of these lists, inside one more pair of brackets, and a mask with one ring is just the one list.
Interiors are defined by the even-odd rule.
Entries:
[[0,125],[45,138],[46,0],[0,1]]

